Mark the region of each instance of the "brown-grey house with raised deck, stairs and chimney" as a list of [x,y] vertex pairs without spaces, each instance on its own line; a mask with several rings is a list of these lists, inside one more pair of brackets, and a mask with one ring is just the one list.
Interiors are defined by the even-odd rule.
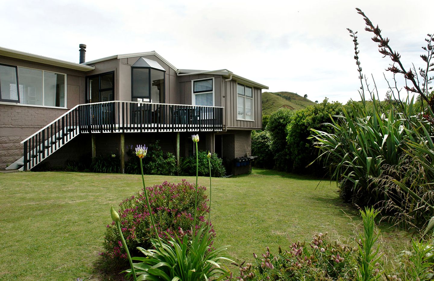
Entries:
[[216,152],[231,173],[251,156],[262,127],[260,83],[227,69],[178,69],[158,53],[80,63],[0,47],[0,169],[62,166],[85,155],[120,155],[125,146],[160,140],[178,161]]

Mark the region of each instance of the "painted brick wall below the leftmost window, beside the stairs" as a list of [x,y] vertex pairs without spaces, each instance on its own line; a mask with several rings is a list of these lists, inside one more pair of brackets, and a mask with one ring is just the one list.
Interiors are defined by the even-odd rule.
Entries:
[[66,109],[0,104],[0,169],[23,156],[23,139],[65,112]]

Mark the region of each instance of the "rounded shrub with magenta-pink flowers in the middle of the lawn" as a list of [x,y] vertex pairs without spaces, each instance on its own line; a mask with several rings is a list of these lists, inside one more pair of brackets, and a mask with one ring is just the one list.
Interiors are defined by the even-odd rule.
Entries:
[[[154,214],[158,235],[168,239],[178,235],[181,239],[185,234],[191,234],[193,227],[194,193],[195,186],[183,180],[178,184],[163,182],[146,188],[149,196],[149,204]],[[205,215],[209,212],[207,207],[206,188],[197,188],[197,227],[205,221]],[[126,198],[119,204],[118,213],[122,234],[125,237],[132,255],[138,255],[136,247],[151,248],[149,238],[155,237],[155,231],[151,225],[151,219],[145,204],[145,192],[138,192],[130,198]],[[214,238],[214,229],[211,228]],[[116,230],[115,222],[107,225],[103,242],[103,256],[107,258],[126,258],[120,235]]]

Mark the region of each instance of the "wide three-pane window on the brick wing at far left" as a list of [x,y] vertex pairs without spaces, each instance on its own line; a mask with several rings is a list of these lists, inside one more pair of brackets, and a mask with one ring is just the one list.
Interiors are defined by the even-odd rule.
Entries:
[[0,65],[1,101],[66,107],[65,85],[65,74]]

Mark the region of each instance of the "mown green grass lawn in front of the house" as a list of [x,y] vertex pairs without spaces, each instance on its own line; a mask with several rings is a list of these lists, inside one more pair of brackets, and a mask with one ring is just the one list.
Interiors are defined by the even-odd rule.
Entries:
[[[145,183],[182,178],[147,175]],[[208,186],[209,178],[199,178],[199,184]],[[139,175],[0,173],[0,280],[113,280],[101,278],[96,266],[105,225],[111,223],[109,209],[140,189]],[[263,169],[214,178],[215,245],[231,245],[229,254],[243,261],[266,246],[277,251],[279,245],[310,241],[316,232],[353,240],[361,219],[335,190],[329,181]],[[407,244],[404,231],[380,229],[386,252]]]

